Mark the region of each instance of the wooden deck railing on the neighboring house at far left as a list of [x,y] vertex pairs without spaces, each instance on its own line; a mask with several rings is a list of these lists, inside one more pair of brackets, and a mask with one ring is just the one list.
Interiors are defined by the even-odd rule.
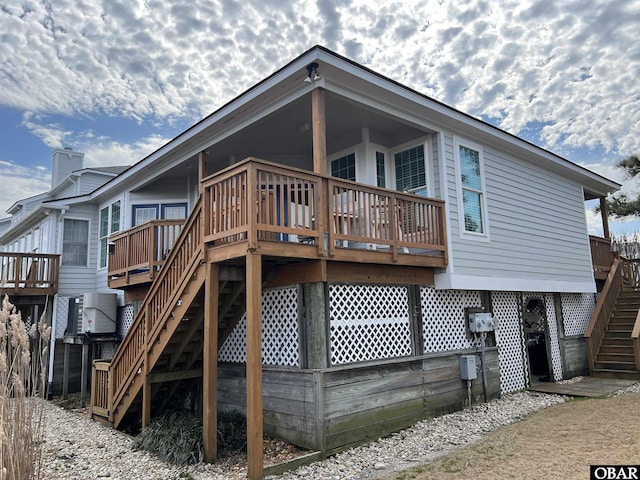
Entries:
[[51,295],[58,291],[60,255],[0,253],[0,293]]

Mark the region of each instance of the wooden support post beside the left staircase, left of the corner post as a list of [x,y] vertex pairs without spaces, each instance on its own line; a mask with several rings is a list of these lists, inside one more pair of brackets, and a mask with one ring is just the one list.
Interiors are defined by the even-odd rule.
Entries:
[[207,263],[204,285],[204,359],[202,366],[202,434],[205,462],[218,457],[218,287],[220,267]]

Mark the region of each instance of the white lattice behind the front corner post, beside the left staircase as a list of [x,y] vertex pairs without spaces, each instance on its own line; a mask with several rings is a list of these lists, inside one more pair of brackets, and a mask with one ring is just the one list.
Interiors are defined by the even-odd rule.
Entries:
[[[246,363],[246,314],[220,348],[218,359],[221,362]],[[262,364],[300,365],[297,287],[262,292]]]

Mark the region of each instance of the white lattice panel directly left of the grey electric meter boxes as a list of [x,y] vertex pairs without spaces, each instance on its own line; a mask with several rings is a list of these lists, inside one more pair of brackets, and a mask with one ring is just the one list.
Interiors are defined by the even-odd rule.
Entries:
[[467,334],[466,307],[482,307],[480,292],[420,288],[422,335],[425,352],[474,347],[478,340]]

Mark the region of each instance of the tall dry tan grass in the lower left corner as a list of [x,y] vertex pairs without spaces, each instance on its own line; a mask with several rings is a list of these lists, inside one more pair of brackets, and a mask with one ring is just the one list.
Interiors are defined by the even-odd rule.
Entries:
[[44,315],[27,330],[5,296],[0,308],[0,480],[40,478],[50,335]]

